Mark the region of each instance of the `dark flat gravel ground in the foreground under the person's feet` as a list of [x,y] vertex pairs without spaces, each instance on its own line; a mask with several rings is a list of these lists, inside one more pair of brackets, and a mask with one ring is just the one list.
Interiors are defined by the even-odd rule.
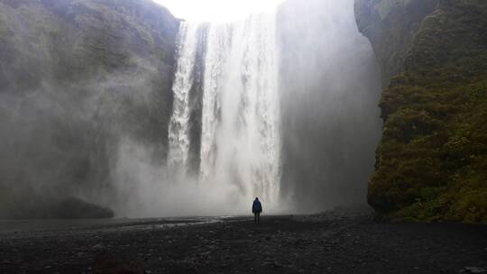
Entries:
[[330,212],[25,227],[0,229],[1,273],[487,273],[483,225]]

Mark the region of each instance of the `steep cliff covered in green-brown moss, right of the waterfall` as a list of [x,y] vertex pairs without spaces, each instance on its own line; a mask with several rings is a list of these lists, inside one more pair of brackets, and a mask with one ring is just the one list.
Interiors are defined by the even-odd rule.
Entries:
[[358,0],[355,12],[390,82],[369,203],[393,220],[486,223],[487,3]]

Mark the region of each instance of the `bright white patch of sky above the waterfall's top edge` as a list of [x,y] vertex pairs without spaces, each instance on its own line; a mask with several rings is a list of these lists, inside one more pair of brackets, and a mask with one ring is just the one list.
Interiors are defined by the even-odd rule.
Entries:
[[187,21],[230,22],[269,11],[283,0],[153,0]]

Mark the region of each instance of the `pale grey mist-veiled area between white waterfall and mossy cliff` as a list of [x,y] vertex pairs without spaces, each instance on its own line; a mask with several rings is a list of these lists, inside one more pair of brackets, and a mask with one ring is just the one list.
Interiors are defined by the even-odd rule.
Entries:
[[354,1],[288,1],[278,22],[285,195],[305,212],[365,205],[381,82]]

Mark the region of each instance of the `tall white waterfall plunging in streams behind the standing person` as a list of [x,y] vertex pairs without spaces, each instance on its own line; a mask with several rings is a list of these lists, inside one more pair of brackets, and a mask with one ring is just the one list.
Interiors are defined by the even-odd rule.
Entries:
[[[198,35],[205,32],[206,35]],[[204,39],[204,54],[197,54]],[[276,205],[280,195],[280,101],[276,14],[253,14],[235,23],[182,23],[174,105],[170,120],[169,162],[188,170],[190,142],[201,142],[201,184],[231,185],[234,196],[262,197]],[[202,60],[198,60],[201,56]],[[204,71],[201,138],[189,134],[189,91],[196,64]]]

